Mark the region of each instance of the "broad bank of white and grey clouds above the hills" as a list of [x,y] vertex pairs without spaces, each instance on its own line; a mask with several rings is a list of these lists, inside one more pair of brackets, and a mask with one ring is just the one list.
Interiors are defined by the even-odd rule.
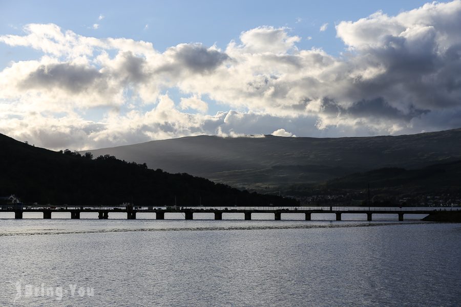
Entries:
[[[30,24],[24,35],[0,36],[11,48],[43,54],[0,72],[0,133],[52,149],[86,149],[200,134],[459,127],[459,29],[461,1],[396,16],[376,12],[337,24],[345,51],[335,57],[299,49],[301,38],[288,28],[250,29],[224,49],[181,43],[159,52],[151,42]],[[175,101],[173,90],[181,96]]]

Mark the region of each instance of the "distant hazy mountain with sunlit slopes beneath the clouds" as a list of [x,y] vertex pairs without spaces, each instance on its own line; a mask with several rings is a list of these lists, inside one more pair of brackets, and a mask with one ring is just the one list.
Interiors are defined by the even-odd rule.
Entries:
[[237,187],[277,191],[372,169],[461,160],[461,129],[353,138],[197,136],[90,151]]

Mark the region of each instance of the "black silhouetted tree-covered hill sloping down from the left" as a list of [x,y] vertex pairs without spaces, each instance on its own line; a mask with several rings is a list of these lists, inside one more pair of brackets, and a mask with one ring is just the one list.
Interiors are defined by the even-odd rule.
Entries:
[[297,201],[240,191],[113,156],[56,152],[0,135],[0,196],[52,205],[293,206]]

